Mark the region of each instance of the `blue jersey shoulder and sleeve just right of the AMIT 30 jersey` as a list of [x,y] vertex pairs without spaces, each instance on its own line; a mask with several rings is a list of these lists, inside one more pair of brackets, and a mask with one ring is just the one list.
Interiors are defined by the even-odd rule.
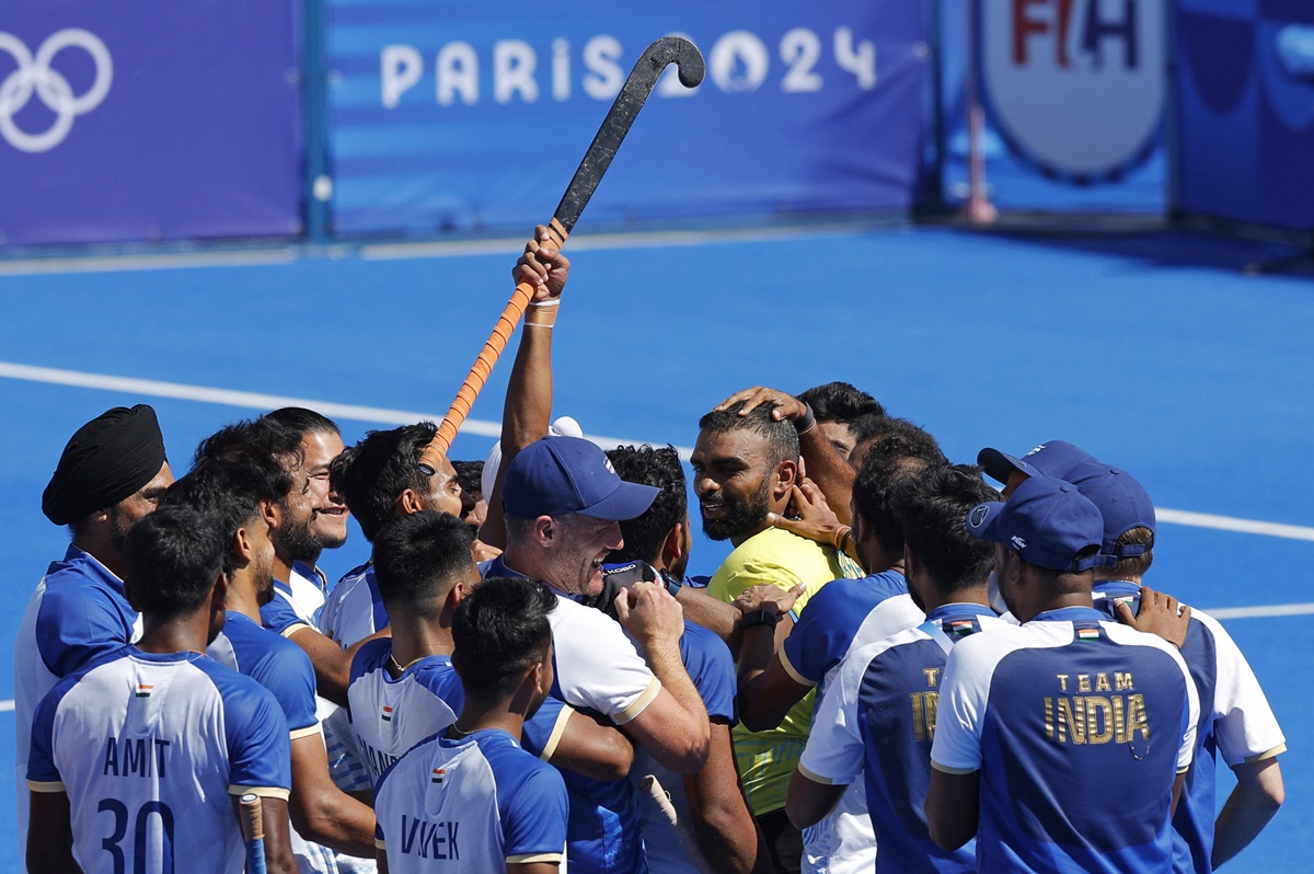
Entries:
[[205,652],[225,668],[246,674],[273,693],[293,740],[319,729],[315,669],[301,647],[230,610],[223,631]]

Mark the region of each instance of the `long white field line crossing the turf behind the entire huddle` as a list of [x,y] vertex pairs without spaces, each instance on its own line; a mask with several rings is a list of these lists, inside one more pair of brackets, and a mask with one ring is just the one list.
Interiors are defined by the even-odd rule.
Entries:
[[[33,367],[30,364],[14,364],[0,361],[0,377],[22,380],[28,382],[47,382],[51,385],[71,385],[84,389],[104,389],[108,392],[129,392],[145,394],[147,397],[167,397],[180,401],[198,401],[201,403],[222,403],[251,410],[272,410],[280,406],[305,406],[318,410],[330,418],[352,419],[356,422],[371,422],[380,425],[410,425],[420,419],[442,418],[438,413],[417,413],[410,410],[392,410],[377,406],[359,406],[353,403],[336,403],[332,401],[315,401],[310,398],[281,397],[277,394],[260,394],[256,392],[237,392],[233,389],[212,389],[201,385],[184,385],[180,382],[160,382],[158,380],[138,380],[126,376],[108,376],[104,373],[85,373],[81,371],[62,371],[50,367]],[[485,419],[466,419],[461,426],[465,434],[485,438],[497,438],[502,432],[498,422]],[[635,439],[618,439],[598,435],[586,435],[594,443],[611,448],[625,443],[640,443]],[[690,447],[675,447],[682,459],[689,459]],[[1159,507],[1156,510],[1159,522],[1169,524],[1183,524],[1194,528],[1213,528],[1218,531],[1234,531],[1236,534],[1259,534],[1271,538],[1284,538],[1286,540],[1314,541],[1314,528],[1307,526],[1284,524],[1279,522],[1260,522],[1256,519],[1238,519],[1235,517],[1221,517],[1208,513],[1190,513],[1188,510],[1169,510]]]

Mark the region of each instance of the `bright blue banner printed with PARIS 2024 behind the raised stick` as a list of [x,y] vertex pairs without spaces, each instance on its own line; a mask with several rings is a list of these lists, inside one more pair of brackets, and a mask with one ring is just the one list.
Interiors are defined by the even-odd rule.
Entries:
[[658,84],[585,223],[907,209],[932,55],[922,4],[326,0],[332,226],[545,222],[644,47]]

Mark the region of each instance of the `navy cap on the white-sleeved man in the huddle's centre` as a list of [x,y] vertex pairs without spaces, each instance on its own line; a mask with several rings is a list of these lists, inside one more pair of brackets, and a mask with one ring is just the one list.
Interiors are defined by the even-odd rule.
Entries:
[[644,514],[660,489],[625,482],[597,444],[549,436],[520,449],[502,481],[509,517],[536,519],[568,513],[624,522]]

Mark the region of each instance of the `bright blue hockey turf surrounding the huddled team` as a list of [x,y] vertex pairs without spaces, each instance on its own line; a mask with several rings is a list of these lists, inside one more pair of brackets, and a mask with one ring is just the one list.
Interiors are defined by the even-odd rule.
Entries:
[[[518,251],[0,262],[4,647],[63,553],[41,490],[79,425],[150,402],[181,472],[201,436],[279,398],[321,405],[348,443],[419,413],[439,418],[506,301]],[[1290,681],[1314,673],[1307,273],[1247,277],[1239,267],[1264,252],[1175,234],[581,234],[570,252],[555,406],[591,435],[689,447],[698,417],[736,389],[842,379],[930,430],[955,461],[1063,438],[1135,473],[1164,510],[1150,582],[1226,616],[1290,747],[1286,806],[1229,870],[1309,863],[1314,711]],[[509,369],[510,356],[472,430],[501,417]],[[490,446],[466,432],[452,455]],[[365,555],[353,531],[323,564],[334,576]],[[691,570],[710,573],[724,555],[700,540]],[[0,699],[12,697],[7,673]],[[12,750],[12,712],[0,712],[0,747]],[[5,769],[0,833],[14,828],[12,798]],[[0,871],[17,870],[12,833],[3,845]]]

